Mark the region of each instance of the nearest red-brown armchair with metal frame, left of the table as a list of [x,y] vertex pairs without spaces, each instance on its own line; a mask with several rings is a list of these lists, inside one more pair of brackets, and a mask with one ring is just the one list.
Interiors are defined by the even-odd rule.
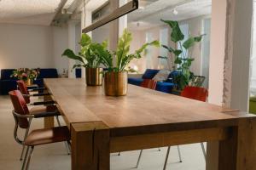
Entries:
[[[9,92],[9,96],[14,106],[13,115],[15,117],[15,132],[14,132],[15,140],[18,144],[23,145],[23,150],[24,150],[24,146],[27,147],[26,156],[23,161],[22,169],[24,169],[25,167],[26,169],[28,169],[34,146],[41,145],[41,144],[52,144],[56,142],[69,143],[70,134],[66,126],[37,129],[37,130],[32,130],[32,132],[29,133],[32,118],[59,116],[58,112],[53,111],[53,112],[42,112],[42,113],[32,114],[28,110],[26,101],[19,90],[14,90]],[[19,139],[17,135],[19,127],[26,129],[26,133],[23,140]],[[68,147],[67,149],[69,153],[70,148]]]

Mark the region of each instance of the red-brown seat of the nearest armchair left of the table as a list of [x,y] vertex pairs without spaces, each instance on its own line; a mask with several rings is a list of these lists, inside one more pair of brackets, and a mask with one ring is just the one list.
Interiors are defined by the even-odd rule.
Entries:
[[25,144],[35,146],[40,144],[52,144],[70,140],[70,133],[65,127],[52,127],[32,130],[27,136]]

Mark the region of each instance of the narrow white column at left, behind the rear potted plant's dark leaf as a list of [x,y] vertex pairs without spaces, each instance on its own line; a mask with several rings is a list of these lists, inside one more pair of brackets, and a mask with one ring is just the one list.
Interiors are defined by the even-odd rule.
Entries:
[[[72,49],[75,51],[76,48],[76,22],[69,21],[67,23],[68,25],[68,48]],[[69,78],[74,78],[75,77],[75,71],[72,71],[73,65],[76,64],[76,61],[73,59],[68,59],[68,77]]]

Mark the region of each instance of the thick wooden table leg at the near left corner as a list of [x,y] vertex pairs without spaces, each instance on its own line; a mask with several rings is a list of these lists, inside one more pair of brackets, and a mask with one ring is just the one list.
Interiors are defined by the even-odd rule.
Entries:
[[71,124],[72,169],[109,170],[109,129],[102,122]]

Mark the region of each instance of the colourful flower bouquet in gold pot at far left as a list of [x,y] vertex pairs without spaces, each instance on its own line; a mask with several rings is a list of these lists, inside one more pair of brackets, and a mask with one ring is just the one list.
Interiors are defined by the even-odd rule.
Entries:
[[39,75],[39,69],[20,68],[15,69],[10,77],[15,77],[19,80],[23,80],[27,86],[31,86],[33,81],[37,79]]

